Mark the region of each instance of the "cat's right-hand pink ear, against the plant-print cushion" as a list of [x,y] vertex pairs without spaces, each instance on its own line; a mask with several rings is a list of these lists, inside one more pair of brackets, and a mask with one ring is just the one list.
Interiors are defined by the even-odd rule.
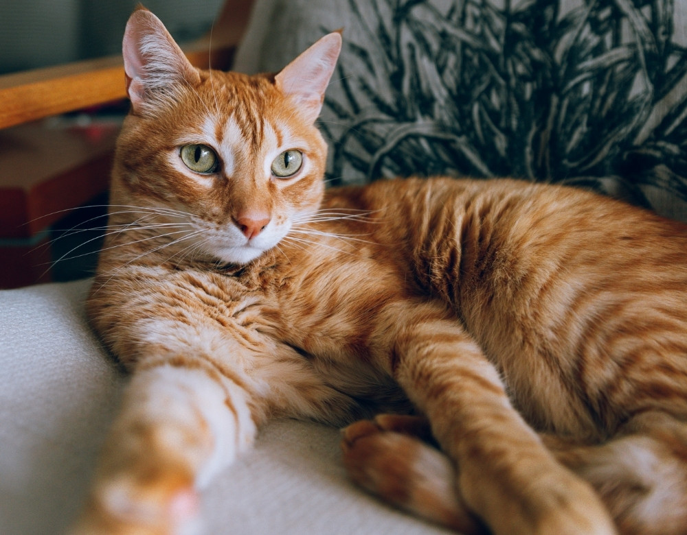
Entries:
[[319,116],[324,91],[341,52],[341,33],[333,32],[286,65],[276,75],[277,87],[293,100],[312,123]]

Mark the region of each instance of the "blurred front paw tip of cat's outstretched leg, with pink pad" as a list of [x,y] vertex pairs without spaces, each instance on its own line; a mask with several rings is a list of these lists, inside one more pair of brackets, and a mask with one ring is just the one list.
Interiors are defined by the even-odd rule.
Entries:
[[183,471],[122,474],[97,482],[75,535],[193,535],[200,531],[199,497]]

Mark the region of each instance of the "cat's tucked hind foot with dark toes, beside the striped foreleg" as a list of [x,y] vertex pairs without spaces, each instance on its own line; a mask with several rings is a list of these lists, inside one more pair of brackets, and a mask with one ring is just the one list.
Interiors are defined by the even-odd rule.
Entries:
[[448,457],[429,446],[429,422],[382,414],[343,430],[343,463],[351,479],[393,506],[464,535],[486,534],[455,488]]

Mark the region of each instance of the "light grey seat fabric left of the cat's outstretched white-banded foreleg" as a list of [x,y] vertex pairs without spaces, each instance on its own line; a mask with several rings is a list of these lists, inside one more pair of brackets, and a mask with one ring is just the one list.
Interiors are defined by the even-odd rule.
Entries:
[[87,281],[0,292],[0,533],[63,532],[124,376],[95,340]]

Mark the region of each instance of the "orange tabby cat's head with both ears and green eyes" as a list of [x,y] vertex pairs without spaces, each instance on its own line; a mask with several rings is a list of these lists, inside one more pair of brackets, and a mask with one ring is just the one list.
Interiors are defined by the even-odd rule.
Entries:
[[155,15],[135,11],[111,202],[155,209],[159,228],[178,225],[179,248],[224,262],[277,245],[322,199],[326,144],[314,123],[340,49],[334,33],[277,75],[203,71]]

